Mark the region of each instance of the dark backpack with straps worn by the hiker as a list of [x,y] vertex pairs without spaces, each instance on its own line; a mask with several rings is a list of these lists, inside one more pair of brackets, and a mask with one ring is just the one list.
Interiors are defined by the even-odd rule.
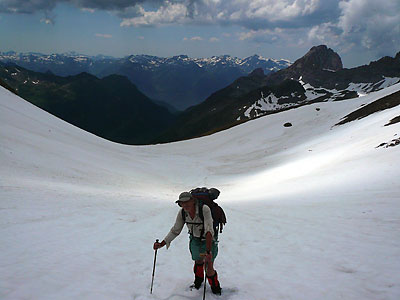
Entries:
[[[199,216],[203,221],[203,229],[201,231],[201,236],[204,236],[204,216],[203,216],[203,205],[207,205],[211,210],[211,215],[213,218],[213,229],[215,237],[218,236],[218,231],[222,233],[222,229],[226,224],[226,215],[221,206],[214,202],[218,198],[220,191],[216,188],[208,189],[206,187],[195,188],[190,191],[192,196],[197,199],[199,205]],[[185,220],[185,211],[182,209],[182,218]]]

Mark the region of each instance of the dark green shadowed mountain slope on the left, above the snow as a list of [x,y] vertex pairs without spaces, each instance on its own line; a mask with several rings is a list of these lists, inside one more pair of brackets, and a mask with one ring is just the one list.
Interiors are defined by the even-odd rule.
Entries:
[[175,115],[128,78],[82,72],[61,77],[0,62],[0,77],[20,97],[81,129],[124,144],[147,144]]

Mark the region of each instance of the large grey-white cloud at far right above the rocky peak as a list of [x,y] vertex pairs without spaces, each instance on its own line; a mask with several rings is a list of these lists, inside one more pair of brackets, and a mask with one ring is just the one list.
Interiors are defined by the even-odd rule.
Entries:
[[338,6],[338,19],[311,28],[311,41],[330,43],[344,52],[368,50],[378,57],[400,50],[399,1],[347,0]]

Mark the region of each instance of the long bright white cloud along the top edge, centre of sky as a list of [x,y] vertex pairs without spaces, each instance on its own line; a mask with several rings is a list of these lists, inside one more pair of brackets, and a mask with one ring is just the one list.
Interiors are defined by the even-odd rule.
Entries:
[[[134,16],[122,26],[162,24],[236,24],[247,28],[270,28],[275,23],[293,26],[317,22],[334,15],[338,0],[165,0],[155,10],[137,4]],[[336,3],[336,4],[335,4]],[[126,8],[125,8],[126,10]],[[309,18],[311,16],[311,18]],[[275,24],[276,25],[276,24]]]

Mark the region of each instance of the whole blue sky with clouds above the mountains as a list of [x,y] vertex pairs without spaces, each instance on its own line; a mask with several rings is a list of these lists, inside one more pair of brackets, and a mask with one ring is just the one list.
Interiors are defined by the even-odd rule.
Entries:
[[398,0],[0,0],[0,51],[123,57],[258,54],[325,44],[345,67],[400,51]]

